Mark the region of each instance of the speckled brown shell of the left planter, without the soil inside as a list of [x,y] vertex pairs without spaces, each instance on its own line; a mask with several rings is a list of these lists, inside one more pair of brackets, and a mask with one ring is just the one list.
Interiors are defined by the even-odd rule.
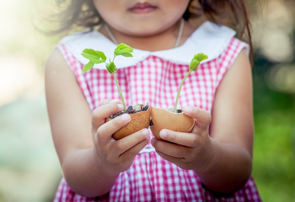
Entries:
[[[148,105],[148,103],[147,103],[147,105]],[[135,132],[142,130],[144,128],[148,128],[149,122],[150,122],[150,107],[149,107],[149,105],[148,105],[148,109],[146,111],[138,112],[135,114],[130,114],[130,116],[131,116],[131,121],[127,125],[120,128],[118,131],[116,131],[113,134],[113,138],[115,140],[120,140],[128,135],[131,135],[132,133],[135,133]],[[112,119],[106,118],[106,122],[108,122],[110,120],[112,120]]]

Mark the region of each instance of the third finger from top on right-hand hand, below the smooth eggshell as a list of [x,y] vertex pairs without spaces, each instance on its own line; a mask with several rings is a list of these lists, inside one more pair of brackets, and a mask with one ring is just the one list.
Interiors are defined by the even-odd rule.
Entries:
[[150,143],[157,151],[176,158],[185,158],[190,152],[190,147],[168,143],[156,138],[151,139]]

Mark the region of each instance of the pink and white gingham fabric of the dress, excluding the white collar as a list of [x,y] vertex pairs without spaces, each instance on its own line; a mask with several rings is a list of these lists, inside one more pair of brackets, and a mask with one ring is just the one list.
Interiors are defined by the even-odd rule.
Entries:
[[[183,84],[179,106],[197,106],[211,112],[215,91],[228,68],[247,44],[233,38],[216,59],[202,63]],[[83,64],[59,44],[59,50],[74,72],[91,110],[105,98],[119,99],[113,76],[107,70],[91,69],[82,73]],[[192,54],[193,55],[193,54]],[[118,69],[116,76],[126,105],[174,106],[178,86],[188,65],[150,56],[137,65]],[[208,190],[193,171],[182,170],[161,158],[148,144],[132,166],[120,173],[104,196],[82,197],[61,180],[54,202],[261,202],[252,178],[232,195],[222,196]]]

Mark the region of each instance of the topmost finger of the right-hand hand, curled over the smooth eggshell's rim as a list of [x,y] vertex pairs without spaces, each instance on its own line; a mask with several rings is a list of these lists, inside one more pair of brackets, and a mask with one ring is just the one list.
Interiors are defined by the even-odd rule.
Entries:
[[183,113],[195,118],[197,126],[203,129],[206,129],[211,122],[210,113],[198,107],[186,106],[183,108]]

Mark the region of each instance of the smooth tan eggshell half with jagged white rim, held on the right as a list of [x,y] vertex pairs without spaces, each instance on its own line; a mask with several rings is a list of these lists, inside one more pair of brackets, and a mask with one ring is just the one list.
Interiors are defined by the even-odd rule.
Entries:
[[153,126],[150,126],[150,130],[160,140],[162,138],[160,138],[159,133],[162,129],[190,133],[195,124],[195,119],[192,117],[183,113],[169,112],[161,108],[151,107],[150,115],[153,123]]

